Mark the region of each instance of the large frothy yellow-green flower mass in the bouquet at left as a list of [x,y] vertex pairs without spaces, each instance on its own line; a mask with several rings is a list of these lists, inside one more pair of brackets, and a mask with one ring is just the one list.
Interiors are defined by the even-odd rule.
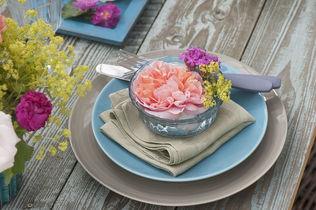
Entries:
[[[29,10],[26,14],[30,18],[34,17],[36,12]],[[69,45],[65,51],[58,50],[64,40],[60,36],[55,36],[52,26],[45,21],[39,20],[18,27],[15,21],[6,18],[6,23],[8,29],[2,31],[3,41],[0,42],[0,111],[14,116],[15,107],[27,91],[46,87],[43,93],[54,107],[59,107],[60,114],[69,116],[67,102],[70,97],[85,97],[86,92],[92,88],[91,81],[82,81],[84,73],[88,72],[89,68],[79,66],[74,69],[73,76],[65,72],[74,59],[74,47]],[[49,69],[52,73],[48,73]],[[17,133],[27,133],[16,122],[14,123]],[[60,117],[51,116],[46,126],[51,125],[59,126]],[[68,142],[59,139],[68,138],[70,132],[68,129],[61,129],[60,133],[54,138],[35,136],[34,142],[40,142],[42,139],[52,140],[49,148],[40,147],[38,159],[45,156],[44,151],[55,155],[57,148],[62,151],[67,148]]]

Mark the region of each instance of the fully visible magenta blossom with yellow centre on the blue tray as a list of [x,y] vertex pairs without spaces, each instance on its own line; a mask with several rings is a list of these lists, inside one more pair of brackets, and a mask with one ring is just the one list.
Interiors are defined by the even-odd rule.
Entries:
[[112,28],[116,27],[119,23],[120,18],[118,15],[121,14],[121,9],[116,4],[107,3],[101,5],[94,15],[92,15],[92,24]]

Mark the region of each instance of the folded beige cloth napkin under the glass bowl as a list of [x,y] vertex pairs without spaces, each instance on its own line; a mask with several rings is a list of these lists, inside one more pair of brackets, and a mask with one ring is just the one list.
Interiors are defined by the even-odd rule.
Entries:
[[215,121],[205,131],[183,138],[156,134],[146,127],[132,104],[128,89],[109,95],[112,109],[100,114],[100,130],[140,159],[174,177],[212,154],[255,119],[233,101],[220,106]]

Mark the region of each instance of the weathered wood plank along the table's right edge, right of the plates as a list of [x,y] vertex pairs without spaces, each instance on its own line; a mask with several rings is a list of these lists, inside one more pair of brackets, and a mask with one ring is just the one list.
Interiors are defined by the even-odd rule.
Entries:
[[[241,61],[261,74],[282,78],[283,84],[277,92],[289,119],[287,141],[268,173],[245,192],[217,201],[219,206],[225,205],[226,209],[292,206],[316,124],[315,7],[313,0],[265,3]],[[239,198],[237,203],[236,198]]]

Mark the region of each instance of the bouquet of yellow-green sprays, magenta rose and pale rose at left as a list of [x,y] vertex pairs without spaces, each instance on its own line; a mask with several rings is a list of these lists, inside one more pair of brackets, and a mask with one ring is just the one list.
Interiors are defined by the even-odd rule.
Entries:
[[[35,16],[34,10],[27,11],[30,20]],[[63,38],[54,36],[52,27],[41,19],[18,27],[15,21],[0,15],[0,181],[5,185],[24,171],[25,162],[31,158],[33,147],[24,139],[40,145],[37,159],[67,148],[68,129],[60,129],[53,138],[35,131],[58,127],[61,118],[53,116],[52,110],[59,109],[59,114],[69,116],[66,105],[70,97],[84,97],[91,90],[89,80],[80,84],[87,66],[74,69],[73,76],[65,72],[75,54],[71,45],[59,51],[62,43]],[[51,141],[47,148],[41,144],[44,140]]]

